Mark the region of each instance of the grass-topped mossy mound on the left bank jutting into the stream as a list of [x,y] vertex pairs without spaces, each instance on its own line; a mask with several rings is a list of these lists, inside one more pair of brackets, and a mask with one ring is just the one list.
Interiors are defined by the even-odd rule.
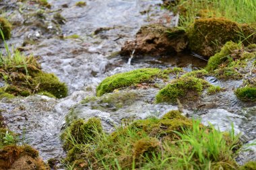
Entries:
[[34,56],[25,56],[13,48],[9,50],[4,44],[6,54],[0,53],[0,80],[5,82],[5,87],[0,88],[1,97],[28,96],[42,91],[57,98],[67,96],[65,83],[53,74],[43,73]]

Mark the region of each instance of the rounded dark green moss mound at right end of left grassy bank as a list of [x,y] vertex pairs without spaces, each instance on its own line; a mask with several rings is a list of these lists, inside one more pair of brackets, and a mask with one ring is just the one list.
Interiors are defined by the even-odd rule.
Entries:
[[38,92],[47,91],[57,98],[67,96],[67,85],[51,73],[38,73],[34,77],[34,85],[38,86]]

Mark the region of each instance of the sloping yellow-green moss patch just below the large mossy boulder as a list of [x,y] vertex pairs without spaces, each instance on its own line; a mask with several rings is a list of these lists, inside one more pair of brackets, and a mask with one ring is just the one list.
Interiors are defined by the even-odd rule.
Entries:
[[241,47],[234,42],[226,42],[222,47],[220,52],[216,53],[214,56],[210,57],[208,60],[207,66],[205,67],[206,71],[214,71],[221,65],[223,62],[231,58],[232,52],[235,50],[240,50]]

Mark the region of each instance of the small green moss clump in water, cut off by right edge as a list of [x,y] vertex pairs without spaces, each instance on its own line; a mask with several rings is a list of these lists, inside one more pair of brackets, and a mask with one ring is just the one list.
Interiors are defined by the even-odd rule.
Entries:
[[256,100],[256,87],[241,87],[234,91],[236,97],[244,101]]

